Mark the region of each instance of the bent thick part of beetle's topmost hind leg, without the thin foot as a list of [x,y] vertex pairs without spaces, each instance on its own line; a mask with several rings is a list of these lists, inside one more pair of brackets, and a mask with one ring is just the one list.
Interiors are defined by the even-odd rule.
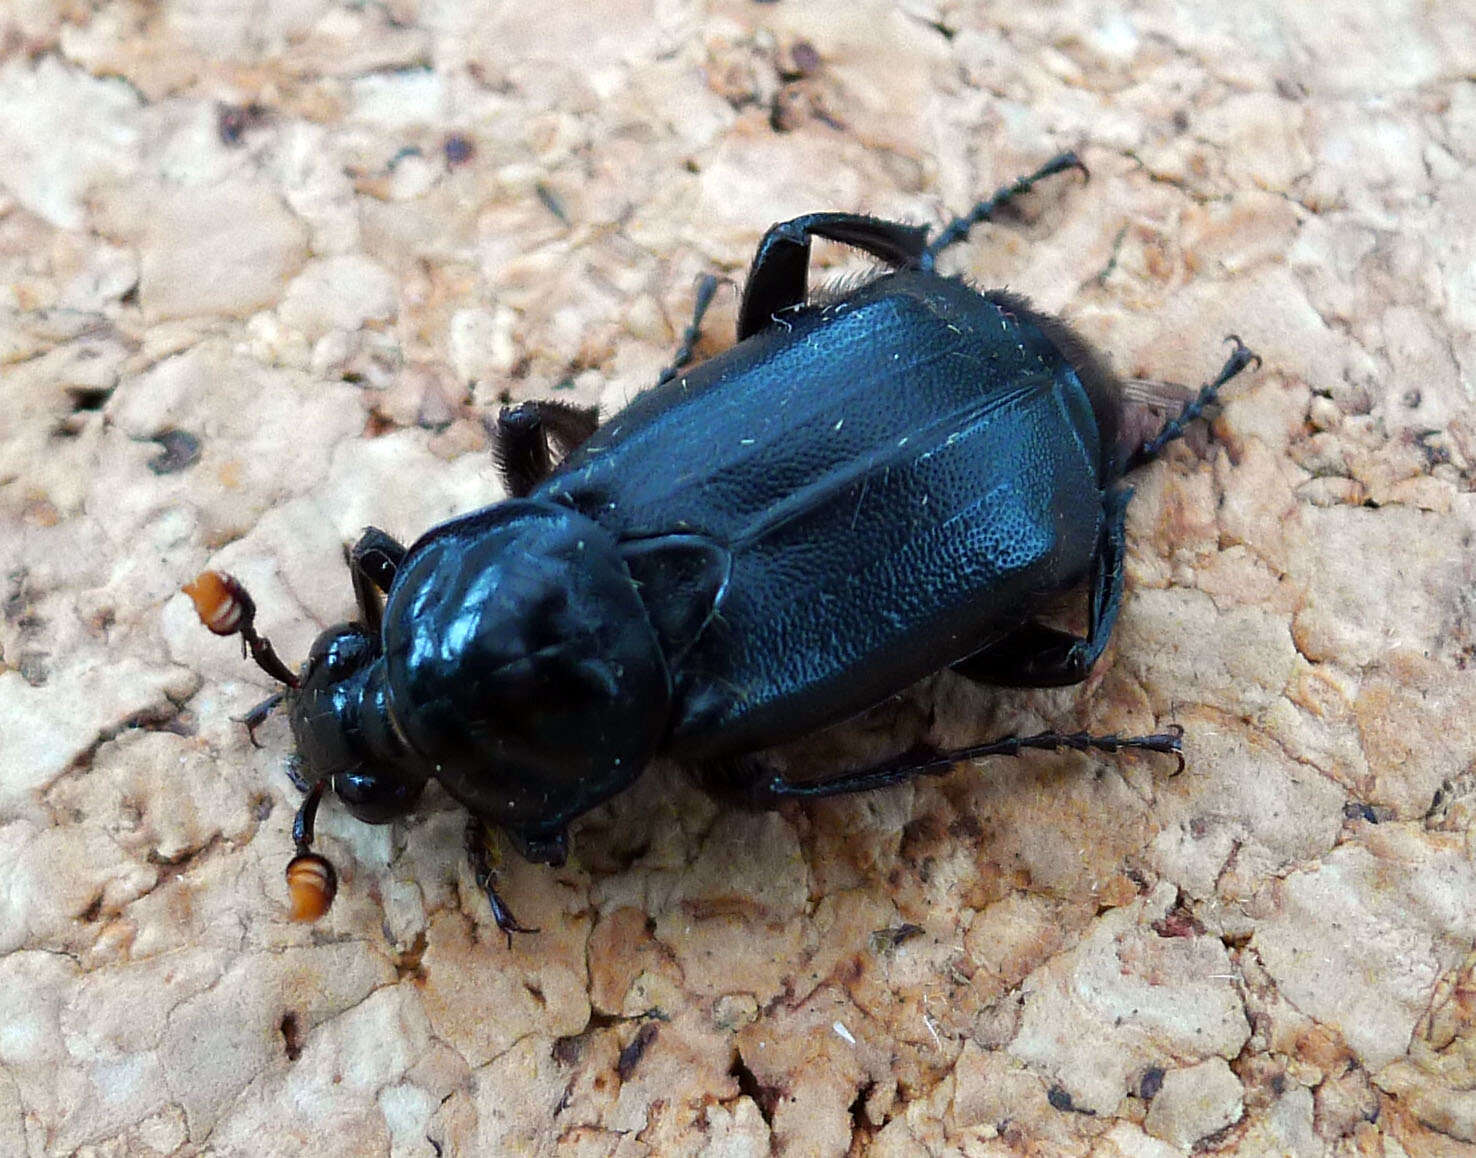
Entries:
[[812,212],[770,226],[748,267],[738,307],[738,341],[773,323],[773,316],[803,305],[810,268],[810,238],[852,245],[894,268],[917,266],[927,252],[927,227],[883,221],[855,212]]

